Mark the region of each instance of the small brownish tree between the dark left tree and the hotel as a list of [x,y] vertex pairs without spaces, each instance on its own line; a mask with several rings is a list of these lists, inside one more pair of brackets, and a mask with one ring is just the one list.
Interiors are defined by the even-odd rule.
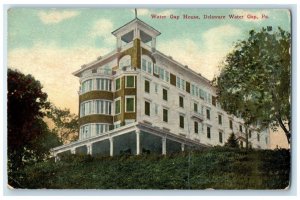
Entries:
[[57,134],[62,143],[78,139],[78,116],[71,114],[69,109],[60,109],[51,104],[47,117],[54,123],[52,131]]

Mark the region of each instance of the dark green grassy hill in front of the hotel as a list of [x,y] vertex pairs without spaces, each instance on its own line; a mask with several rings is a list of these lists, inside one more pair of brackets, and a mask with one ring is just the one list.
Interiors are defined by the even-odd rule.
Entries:
[[217,147],[168,156],[72,155],[29,166],[23,176],[25,188],[284,189],[290,152]]

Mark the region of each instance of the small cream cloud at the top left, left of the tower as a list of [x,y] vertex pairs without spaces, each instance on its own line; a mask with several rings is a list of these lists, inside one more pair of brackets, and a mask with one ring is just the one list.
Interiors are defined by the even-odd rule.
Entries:
[[79,15],[78,11],[40,11],[38,16],[44,24],[57,24],[63,20],[70,19]]

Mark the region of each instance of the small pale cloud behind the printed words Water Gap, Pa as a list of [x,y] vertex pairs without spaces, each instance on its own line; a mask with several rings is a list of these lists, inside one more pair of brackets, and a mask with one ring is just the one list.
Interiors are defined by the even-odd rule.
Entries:
[[[246,22],[261,22],[265,20],[262,18],[262,15],[270,15],[270,11],[268,10],[259,10],[259,11],[251,11],[251,10],[243,10],[243,9],[234,9],[232,10],[232,14],[244,16],[243,21]],[[254,16],[257,17],[254,19]]]

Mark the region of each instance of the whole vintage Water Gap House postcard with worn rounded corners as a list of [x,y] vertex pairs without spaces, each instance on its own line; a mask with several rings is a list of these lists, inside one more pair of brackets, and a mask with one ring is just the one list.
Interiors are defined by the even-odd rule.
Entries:
[[288,189],[285,8],[7,11],[13,189]]

